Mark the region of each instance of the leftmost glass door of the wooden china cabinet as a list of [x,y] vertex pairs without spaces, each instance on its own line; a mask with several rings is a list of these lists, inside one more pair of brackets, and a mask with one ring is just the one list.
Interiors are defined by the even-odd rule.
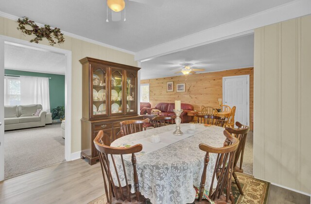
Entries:
[[106,68],[93,68],[93,117],[106,115]]

